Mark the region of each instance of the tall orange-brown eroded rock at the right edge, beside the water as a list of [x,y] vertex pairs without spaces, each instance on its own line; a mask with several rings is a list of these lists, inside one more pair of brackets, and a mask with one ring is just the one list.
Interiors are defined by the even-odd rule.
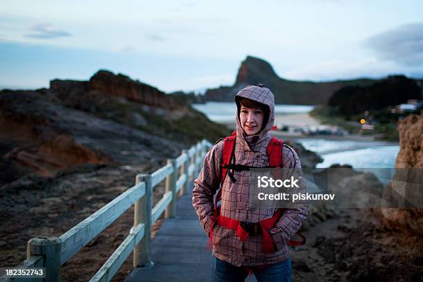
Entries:
[[394,180],[402,181],[386,187],[384,197],[397,198],[401,208],[381,209],[382,221],[389,228],[405,227],[423,234],[423,113],[408,115],[398,122],[398,131],[400,153],[395,161],[398,170]]

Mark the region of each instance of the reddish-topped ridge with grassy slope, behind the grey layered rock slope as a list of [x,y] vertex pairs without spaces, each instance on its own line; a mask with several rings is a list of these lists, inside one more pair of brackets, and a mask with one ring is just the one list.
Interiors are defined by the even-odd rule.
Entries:
[[180,97],[109,71],[97,72],[88,82],[55,79],[50,91],[73,109],[187,144],[227,134]]

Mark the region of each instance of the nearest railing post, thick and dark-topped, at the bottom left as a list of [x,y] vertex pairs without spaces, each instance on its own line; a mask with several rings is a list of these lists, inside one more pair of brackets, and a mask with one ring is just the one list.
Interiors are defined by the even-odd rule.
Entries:
[[30,256],[44,256],[46,282],[60,281],[60,251],[62,241],[57,237],[37,237],[28,241],[27,259]]

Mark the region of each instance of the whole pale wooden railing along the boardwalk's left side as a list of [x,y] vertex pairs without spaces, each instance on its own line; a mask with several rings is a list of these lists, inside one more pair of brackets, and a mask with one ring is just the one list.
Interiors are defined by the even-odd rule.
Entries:
[[[127,209],[135,204],[134,222],[129,235],[90,281],[111,281],[120,266],[133,252],[133,267],[148,267],[151,262],[151,226],[164,212],[165,218],[176,216],[178,192],[187,194],[188,182],[194,180],[203,158],[212,144],[203,140],[189,150],[182,150],[176,159],[151,174],[138,174],[135,186],[88,216],[59,237],[37,237],[28,241],[27,259],[18,268],[46,267],[45,281],[60,281],[60,267]],[[180,176],[178,177],[178,169]],[[153,189],[166,179],[166,190],[153,207]],[[3,281],[14,281],[7,279]],[[19,281],[23,281],[19,279]],[[25,281],[32,281],[31,279]],[[36,281],[39,281],[36,280]]]

